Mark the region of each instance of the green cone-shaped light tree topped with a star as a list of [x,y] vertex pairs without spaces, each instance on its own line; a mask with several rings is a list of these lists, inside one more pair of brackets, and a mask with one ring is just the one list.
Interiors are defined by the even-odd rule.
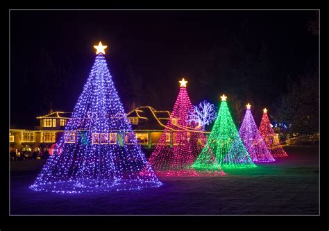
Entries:
[[217,119],[207,143],[193,164],[196,169],[214,169],[218,166],[223,169],[255,166],[239,137],[239,132],[228,110],[225,95],[221,96]]

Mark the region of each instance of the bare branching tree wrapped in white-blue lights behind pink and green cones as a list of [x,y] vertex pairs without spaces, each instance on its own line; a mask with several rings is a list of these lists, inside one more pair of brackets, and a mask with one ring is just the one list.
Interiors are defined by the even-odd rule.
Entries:
[[205,126],[210,124],[216,119],[217,113],[216,108],[212,103],[202,101],[198,106],[193,106],[193,110],[189,110],[189,123],[198,123],[202,126],[202,130],[205,130]]

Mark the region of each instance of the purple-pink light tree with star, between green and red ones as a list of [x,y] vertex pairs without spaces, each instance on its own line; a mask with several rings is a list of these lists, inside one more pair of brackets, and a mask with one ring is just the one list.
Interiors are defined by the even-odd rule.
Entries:
[[251,105],[246,105],[246,114],[242,121],[239,135],[246,146],[253,162],[273,162],[275,161],[267,145],[258,131],[253,114],[251,114]]

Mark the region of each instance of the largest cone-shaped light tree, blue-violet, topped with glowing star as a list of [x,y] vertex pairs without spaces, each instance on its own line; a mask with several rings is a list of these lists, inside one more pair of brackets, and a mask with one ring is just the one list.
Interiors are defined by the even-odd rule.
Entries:
[[90,76],[33,190],[78,193],[162,185],[126,117],[106,64],[107,46],[94,47]]

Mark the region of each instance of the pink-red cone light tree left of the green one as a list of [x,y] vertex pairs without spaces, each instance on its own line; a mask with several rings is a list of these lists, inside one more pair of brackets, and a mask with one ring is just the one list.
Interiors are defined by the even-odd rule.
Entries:
[[[181,80],[180,91],[167,123],[165,131],[159,139],[149,162],[159,176],[199,176],[200,173],[192,168],[197,155],[201,152],[206,138],[201,126],[196,122],[189,122],[189,112],[193,110],[187,94],[187,81]],[[215,158],[213,158],[215,161]],[[222,175],[220,168],[212,174]]]

